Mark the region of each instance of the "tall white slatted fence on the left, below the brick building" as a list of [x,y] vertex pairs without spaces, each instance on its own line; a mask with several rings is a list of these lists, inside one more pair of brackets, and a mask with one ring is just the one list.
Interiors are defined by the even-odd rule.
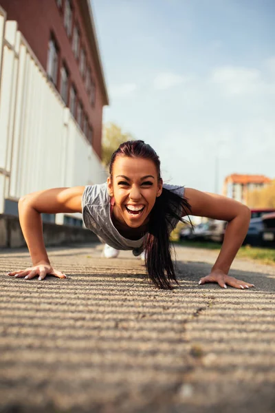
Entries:
[[[107,171],[2,8],[0,27],[0,215],[17,215],[23,195],[100,184]],[[79,224],[81,213],[73,215]],[[56,214],[50,222],[62,225],[66,216]]]

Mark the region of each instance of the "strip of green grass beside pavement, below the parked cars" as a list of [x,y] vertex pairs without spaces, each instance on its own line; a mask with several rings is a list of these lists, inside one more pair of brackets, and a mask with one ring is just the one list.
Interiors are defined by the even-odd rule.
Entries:
[[[221,249],[221,244],[217,242],[190,242],[190,241],[177,241],[177,245],[191,246],[192,248],[206,248],[212,250]],[[275,265],[275,248],[265,248],[258,246],[245,245],[241,246],[236,257],[249,258],[261,264]]]

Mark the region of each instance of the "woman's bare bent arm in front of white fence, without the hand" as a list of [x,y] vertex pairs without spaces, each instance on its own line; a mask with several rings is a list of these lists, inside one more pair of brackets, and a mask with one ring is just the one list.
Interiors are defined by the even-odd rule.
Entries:
[[41,213],[82,212],[84,189],[85,187],[46,189],[20,198],[19,221],[34,266],[50,264],[43,240]]

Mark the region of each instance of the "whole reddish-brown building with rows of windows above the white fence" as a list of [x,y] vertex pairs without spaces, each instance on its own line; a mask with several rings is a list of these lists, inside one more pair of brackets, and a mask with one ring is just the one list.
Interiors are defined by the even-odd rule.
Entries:
[[0,0],[101,158],[102,108],[108,105],[89,0]]

